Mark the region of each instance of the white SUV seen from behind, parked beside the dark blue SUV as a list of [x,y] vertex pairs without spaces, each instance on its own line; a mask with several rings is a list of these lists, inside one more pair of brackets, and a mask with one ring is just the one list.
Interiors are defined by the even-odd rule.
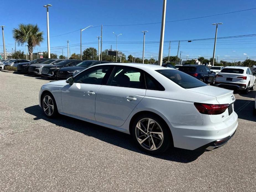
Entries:
[[215,84],[227,89],[254,90],[256,77],[249,67],[227,66],[216,76]]

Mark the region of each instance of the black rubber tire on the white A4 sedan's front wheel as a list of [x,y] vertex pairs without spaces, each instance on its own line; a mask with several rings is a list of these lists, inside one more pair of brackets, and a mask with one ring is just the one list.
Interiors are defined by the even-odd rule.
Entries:
[[[53,110],[52,110],[51,106],[48,106],[48,109],[50,110],[50,113],[49,113],[49,110],[46,109],[47,107],[45,106],[47,103],[44,103],[44,101],[43,101],[44,98],[47,98],[47,97],[51,98],[52,102],[49,101],[49,103],[50,103],[50,105],[53,105]],[[54,99],[53,95],[50,94],[50,93],[43,94],[42,99],[41,99],[41,107],[42,107],[43,113],[48,118],[54,118],[58,115],[58,109],[57,109],[55,99]]]

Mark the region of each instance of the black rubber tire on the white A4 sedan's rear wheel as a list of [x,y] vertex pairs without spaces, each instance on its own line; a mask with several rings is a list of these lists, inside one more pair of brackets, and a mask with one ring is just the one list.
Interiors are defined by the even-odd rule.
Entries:
[[[162,136],[163,137],[160,134],[154,134],[154,133],[151,133],[150,131],[147,132],[149,134],[144,134],[142,131],[140,131],[138,128],[136,128],[137,123],[139,123],[140,121],[145,121],[146,122],[146,119],[148,119],[148,118],[156,122],[149,129],[151,129],[151,131],[158,132],[157,128],[158,128],[158,125],[159,125],[160,130],[162,131]],[[152,121],[150,121],[150,122],[152,122]],[[159,116],[157,116],[157,115],[153,115],[153,114],[150,114],[150,113],[139,115],[133,121],[131,130],[132,130],[131,134],[133,136],[133,140],[138,145],[139,149],[141,149],[142,151],[145,151],[149,154],[161,154],[161,153],[165,152],[167,149],[169,149],[171,146],[173,146],[173,140],[172,140],[172,134],[170,132],[170,128],[167,126],[166,122],[164,122],[164,120],[162,118],[160,118]],[[145,143],[147,143],[147,144],[145,144],[144,142],[142,144],[139,144],[139,141],[137,139],[138,131],[142,135],[144,135],[144,137],[140,137],[140,138],[142,138],[142,140],[146,139],[146,137],[148,138],[148,139],[145,140]],[[144,129],[144,131],[146,131],[146,130]],[[157,139],[157,137],[159,137],[159,138]],[[161,139],[161,137],[162,137],[162,139]],[[152,140],[153,140],[154,144],[152,143]],[[161,143],[157,143],[159,140],[161,140]],[[149,143],[149,145],[148,145],[148,143]],[[156,149],[151,150],[151,149],[147,149],[145,146],[143,147],[142,145],[148,145],[148,148],[150,148],[152,146],[154,148],[157,145],[159,145],[159,146],[156,147]]]

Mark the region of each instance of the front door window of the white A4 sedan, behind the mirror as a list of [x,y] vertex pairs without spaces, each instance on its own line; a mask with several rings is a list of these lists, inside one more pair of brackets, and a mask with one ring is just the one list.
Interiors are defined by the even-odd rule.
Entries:
[[87,69],[75,76],[74,82],[99,85],[106,84],[111,69],[111,66],[107,65]]

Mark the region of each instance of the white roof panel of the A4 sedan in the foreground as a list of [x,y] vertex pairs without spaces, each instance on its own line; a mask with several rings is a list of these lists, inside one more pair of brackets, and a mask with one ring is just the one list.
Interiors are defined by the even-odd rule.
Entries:
[[[159,70],[159,69],[168,69],[168,70],[173,69],[173,70],[176,70],[174,68],[166,68],[166,67],[162,67],[162,66],[159,66],[159,65],[142,64],[142,63],[104,63],[104,64],[99,64],[99,65],[100,66],[102,66],[102,65],[120,65],[120,66],[135,67],[135,68],[139,68],[139,69],[152,69],[152,70]],[[98,65],[94,65],[94,66],[98,66]]]

